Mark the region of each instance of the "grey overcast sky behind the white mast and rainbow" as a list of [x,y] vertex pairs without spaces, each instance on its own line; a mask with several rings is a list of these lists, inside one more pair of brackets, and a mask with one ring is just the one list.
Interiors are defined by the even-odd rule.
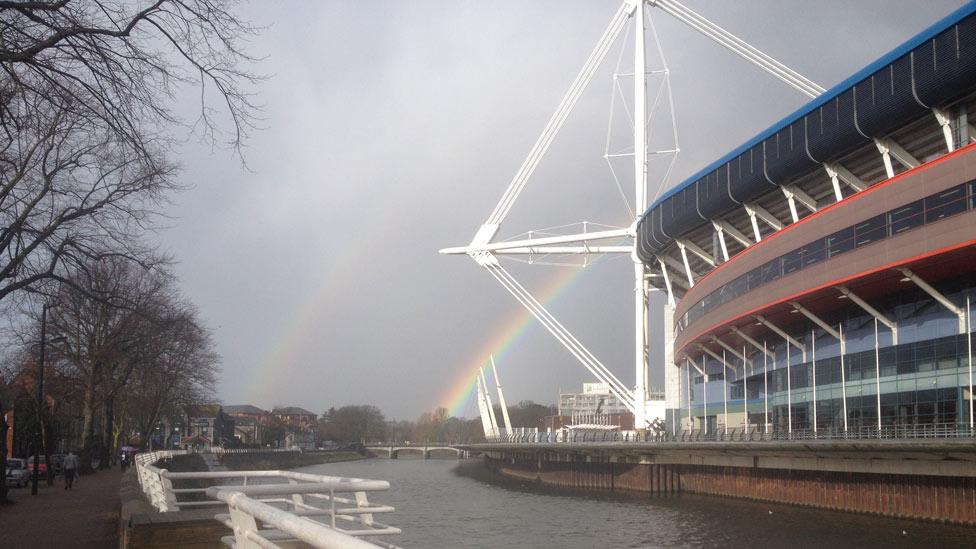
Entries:
[[[962,4],[686,3],[828,88]],[[258,72],[270,76],[257,89],[266,128],[246,151],[250,171],[225,151],[187,143],[180,161],[193,188],[176,197],[174,219],[160,235],[179,261],[184,292],[214,332],[225,404],[322,412],[371,403],[388,417],[413,419],[442,404],[458,376],[487,359],[486,345],[524,313],[470,259],[437,250],[470,241],[618,5],[347,0],[246,7],[246,18],[267,26],[250,51],[264,58]],[[651,15],[671,70],[681,146],[666,185],[805,103],[667,15]],[[618,51],[502,236],[583,220],[630,223],[602,159]],[[630,194],[632,176],[620,177]],[[509,268],[539,291],[566,277],[559,267]],[[551,304],[628,384],[631,277],[627,258],[597,263]],[[560,389],[591,381],[535,324],[503,351],[496,349],[510,403],[555,402]],[[652,354],[652,383],[661,386]]]

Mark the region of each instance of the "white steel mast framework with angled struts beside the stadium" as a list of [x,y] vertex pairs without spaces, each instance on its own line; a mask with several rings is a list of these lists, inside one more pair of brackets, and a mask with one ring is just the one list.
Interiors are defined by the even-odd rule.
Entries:
[[[644,4],[664,11],[675,19],[681,21],[693,30],[705,35],[716,43],[728,48],[735,54],[743,57],[749,62],[759,66],[766,72],[772,74],[779,80],[792,86],[794,89],[807,95],[816,97],[823,93],[824,88],[798,74],[796,71],[786,67],[779,61],[764,54],[754,48],[744,40],[732,33],[719,27],[715,23],[704,18],[700,14],[687,8],[677,0],[624,0],[620,8],[610,19],[610,24],[600,37],[596,47],[590,53],[583,68],[580,70],[576,79],[570,86],[569,91],[563,97],[556,112],[550,118],[533,145],[528,157],[519,168],[515,177],[509,183],[508,188],[502,195],[501,200],[495,206],[488,219],[481,225],[471,243],[467,246],[454,248],[444,248],[440,250],[442,254],[466,254],[475,260],[480,266],[484,267],[498,282],[508,290],[535,318],[565,346],[579,361],[590,371],[599,381],[606,383],[610,391],[621,403],[634,413],[634,425],[637,429],[647,427],[647,384],[648,384],[648,292],[650,290],[649,278],[652,276],[667,277],[667,272],[662,271],[660,275],[652,274],[637,256],[637,225],[647,208],[647,154],[648,154],[648,120],[647,120],[647,63],[645,52],[645,32],[644,25]],[[605,59],[611,44],[617,39],[621,30],[624,28],[627,19],[634,18],[635,44],[634,44],[634,190],[635,220],[627,228],[603,230],[596,232],[584,231],[577,234],[563,234],[558,236],[548,236],[543,238],[530,238],[523,240],[509,240],[504,242],[494,241],[495,235],[501,226],[502,221],[508,216],[515,200],[518,198],[522,189],[525,187],[529,178],[535,172],[540,160],[545,155],[553,139],[559,133],[570,111],[573,110],[580,99],[583,90],[592,80],[597,68]],[[653,30],[653,27],[652,27]],[[655,40],[657,37],[655,35]],[[660,45],[658,44],[660,49]],[[663,55],[661,61],[663,62]],[[668,74],[665,66],[662,72]],[[670,101],[670,81],[666,78],[668,97]],[[674,123],[674,112],[672,109],[672,125]],[[675,141],[677,134],[675,133]],[[673,151],[655,151],[657,153],[673,152],[677,153],[677,142]],[[614,154],[609,156],[626,156],[625,154]],[[669,172],[670,173],[670,172]],[[608,241],[619,241],[621,239],[631,239],[632,241],[624,245],[611,243]],[[573,334],[569,332],[546,308],[535,299],[498,261],[498,255],[519,255],[519,254],[581,254],[591,253],[613,254],[630,253],[634,261],[634,334],[635,334],[635,384],[631,390],[622,383],[606,366],[603,365]],[[669,304],[674,306],[674,298],[669,293]],[[670,319],[668,319],[670,320]],[[670,322],[666,322],[667,325]],[[668,330],[670,332],[670,330]],[[666,336],[666,341],[669,341]],[[669,350],[665,351],[665,358],[669,356]],[[670,360],[667,360],[670,362]],[[665,365],[667,367],[667,364]],[[497,377],[496,377],[497,380]],[[479,391],[483,391],[484,405],[488,407],[487,421],[494,433],[498,432],[498,425],[494,420],[494,410],[491,407],[491,397],[488,394],[488,384],[485,381],[484,373],[480,372]],[[503,400],[499,386],[499,400]],[[479,405],[482,400],[479,398]],[[502,410],[507,413],[504,404]],[[483,417],[484,421],[484,417]],[[507,427],[508,418],[505,418]]]

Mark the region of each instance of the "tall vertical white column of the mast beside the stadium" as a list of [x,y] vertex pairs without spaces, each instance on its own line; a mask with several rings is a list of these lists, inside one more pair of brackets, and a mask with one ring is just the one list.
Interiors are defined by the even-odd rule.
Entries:
[[[644,51],[644,2],[634,9],[634,211],[647,207],[647,67]],[[647,428],[647,269],[634,239],[635,387],[634,428]]]

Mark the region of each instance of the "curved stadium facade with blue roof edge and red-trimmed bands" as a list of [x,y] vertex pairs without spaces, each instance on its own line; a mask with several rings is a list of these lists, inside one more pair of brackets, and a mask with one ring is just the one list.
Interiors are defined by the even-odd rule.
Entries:
[[970,4],[645,212],[669,429],[971,427],[973,122]]

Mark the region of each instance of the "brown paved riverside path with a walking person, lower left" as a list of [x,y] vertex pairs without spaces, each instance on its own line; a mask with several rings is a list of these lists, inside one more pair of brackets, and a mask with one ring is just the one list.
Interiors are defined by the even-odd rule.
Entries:
[[0,547],[112,548],[118,545],[118,468],[100,471],[64,489],[58,477],[54,486],[38,484],[11,488],[12,504],[0,505]]

